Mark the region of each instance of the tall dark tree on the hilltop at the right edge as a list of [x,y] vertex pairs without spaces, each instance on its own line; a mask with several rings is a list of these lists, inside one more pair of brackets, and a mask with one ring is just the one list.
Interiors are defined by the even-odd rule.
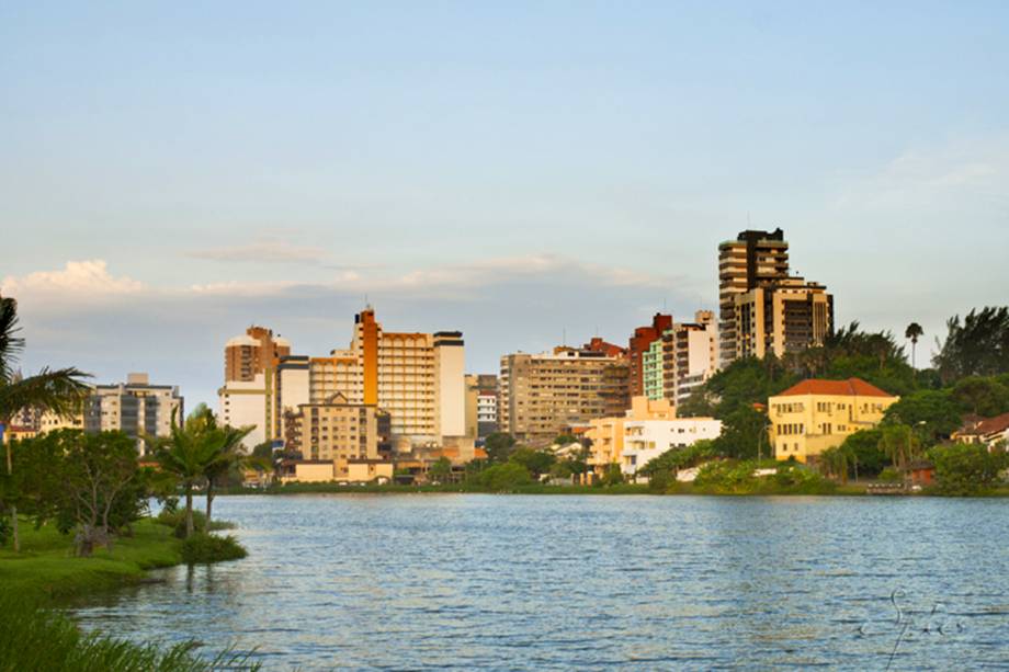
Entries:
[[946,320],[946,338],[932,365],[948,384],[1009,373],[1009,307],[989,306]]

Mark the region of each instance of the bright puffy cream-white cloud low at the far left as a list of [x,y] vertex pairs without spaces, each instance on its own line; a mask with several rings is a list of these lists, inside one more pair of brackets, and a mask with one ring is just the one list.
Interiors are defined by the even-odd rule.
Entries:
[[0,294],[13,296],[105,298],[131,296],[144,292],[146,285],[131,277],[109,273],[104,260],[68,261],[61,271],[37,271],[23,277],[9,275],[0,283]]

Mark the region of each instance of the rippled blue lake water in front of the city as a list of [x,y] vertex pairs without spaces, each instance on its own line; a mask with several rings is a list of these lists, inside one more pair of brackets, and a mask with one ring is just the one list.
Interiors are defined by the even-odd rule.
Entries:
[[1009,500],[222,497],[246,560],[76,610],[268,670],[1009,669]]

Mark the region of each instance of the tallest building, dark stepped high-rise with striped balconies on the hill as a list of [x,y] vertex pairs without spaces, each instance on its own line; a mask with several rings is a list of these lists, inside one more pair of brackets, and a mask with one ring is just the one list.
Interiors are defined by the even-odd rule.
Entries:
[[789,275],[789,243],[779,228],[742,231],[718,246],[719,365],[821,345],[834,328],[824,285]]

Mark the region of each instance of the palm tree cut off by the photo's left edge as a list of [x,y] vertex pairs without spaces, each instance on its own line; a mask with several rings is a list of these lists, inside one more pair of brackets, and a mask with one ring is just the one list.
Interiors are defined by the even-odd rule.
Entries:
[[[43,368],[38,374],[22,377],[15,365],[24,350],[24,339],[18,335],[18,301],[0,297],[0,435],[2,428],[25,410],[49,411],[70,415],[80,408],[90,391],[83,381],[90,376],[76,368]],[[11,444],[7,442],[7,474],[13,474]],[[11,505],[14,551],[21,550],[18,536],[18,506]]]

